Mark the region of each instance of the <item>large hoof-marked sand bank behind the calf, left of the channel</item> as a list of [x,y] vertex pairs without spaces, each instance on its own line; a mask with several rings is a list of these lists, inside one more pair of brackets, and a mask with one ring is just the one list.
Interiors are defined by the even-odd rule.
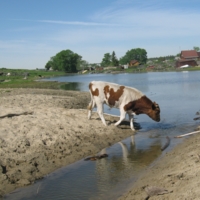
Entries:
[[89,101],[89,92],[0,89],[1,196],[133,134],[114,117],[108,127],[88,120]]

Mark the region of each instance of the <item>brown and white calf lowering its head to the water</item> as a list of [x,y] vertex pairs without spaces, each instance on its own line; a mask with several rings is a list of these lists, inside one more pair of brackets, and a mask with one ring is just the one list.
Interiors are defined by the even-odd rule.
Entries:
[[96,106],[99,117],[103,124],[107,126],[103,116],[103,104],[110,107],[119,108],[120,119],[115,123],[119,125],[129,115],[130,127],[134,131],[133,116],[146,114],[151,119],[160,121],[160,108],[155,102],[152,102],[142,92],[136,88],[121,86],[115,83],[104,81],[92,81],[89,84],[91,102],[88,105],[88,119],[91,118],[92,109]]

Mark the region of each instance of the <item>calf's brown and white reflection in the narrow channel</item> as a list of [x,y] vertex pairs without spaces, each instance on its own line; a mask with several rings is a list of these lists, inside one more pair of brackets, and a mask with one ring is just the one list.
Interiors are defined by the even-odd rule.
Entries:
[[[146,144],[146,149],[137,148],[134,136],[115,144],[107,159],[96,162],[98,195],[90,199],[106,200],[108,196],[109,199],[116,199],[116,196],[110,193],[119,194],[124,185],[127,186],[124,184],[127,180],[136,178],[142,169],[161,154],[161,141],[159,139],[152,141],[151,144]],[[121,147],[121,151],[113,152],[118,146]],[[116,187],[118,191],[115,191]]]

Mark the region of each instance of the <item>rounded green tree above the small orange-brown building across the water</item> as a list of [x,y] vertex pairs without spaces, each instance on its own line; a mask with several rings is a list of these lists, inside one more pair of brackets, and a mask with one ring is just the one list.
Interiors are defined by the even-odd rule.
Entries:
[[145,64],[147,61],[147,52],[145,49],[136,48],[126,52],[126,54],[120,58],[120,64],[124,65],[129,63],[131,60],[137,60],[141,64]]

